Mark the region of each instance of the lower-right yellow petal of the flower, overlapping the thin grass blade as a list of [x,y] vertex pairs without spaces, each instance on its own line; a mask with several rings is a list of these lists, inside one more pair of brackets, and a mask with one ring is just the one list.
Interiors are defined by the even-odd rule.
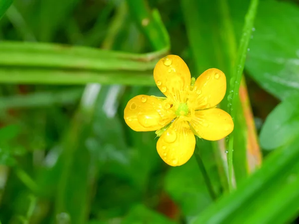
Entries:
[[218,108],[195,111],[190,124],[199,137],[211,141],[224,138],[234,129],[232,117]]

